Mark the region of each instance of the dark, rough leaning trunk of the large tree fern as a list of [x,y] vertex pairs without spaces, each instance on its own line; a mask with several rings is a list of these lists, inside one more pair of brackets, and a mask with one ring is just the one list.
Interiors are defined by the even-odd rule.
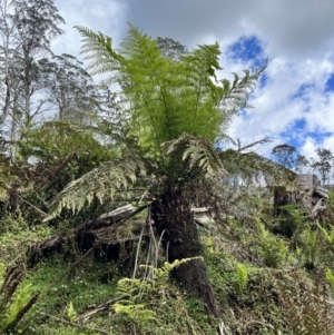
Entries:
[[[202,256],[194,215],[189,203],[180,194],[164,194],[151,205],[151,218],[158,234],[164,233],[163,245],[168,262]],[[214,290],[203,259],[194,259],[177,267],[173,276],[187,292],[204,300],[207,312],[218,316]]]

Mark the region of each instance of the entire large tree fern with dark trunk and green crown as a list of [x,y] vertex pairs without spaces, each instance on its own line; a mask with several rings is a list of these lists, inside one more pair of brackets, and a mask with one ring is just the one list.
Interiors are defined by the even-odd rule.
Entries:
[[[220,149],[222,141],[228,139],[229,121],[247,106],[264,69],[245,70],[230,82],[217,78],[218,43],[198,46],[175,61],[173,55],[160,51],[156,40],[131,24],[118,48],[101,32],[77,29],[82,36],[82,52],[91,61],[88,69],[92,75],[109,72],[109,83],[119,86],[127,122],[119,140],[126,145],[121,157],[70,183],[55,199],[47,220],[62,208],[78,211],[94,198],[115,199],[130,185],[146,183],[140,200],[147,201],[168,260],[200,256],[191,211],[194,187],[219,185],[227,171],[237,173],[236,167],[247,177],[264,169],[277,173],[275,164],[247,147]],[[197,194],[202,196],[200,190]],[[219,314],[203,259],[185,263],[174,276],[206,303],[208,313]]]

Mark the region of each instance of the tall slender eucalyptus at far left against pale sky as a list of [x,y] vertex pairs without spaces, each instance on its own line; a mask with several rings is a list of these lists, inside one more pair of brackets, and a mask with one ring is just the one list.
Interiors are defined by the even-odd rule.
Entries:
[[[27,127],[45,110],[48,99],[39,96],[38,60],[50,55],[50,42],[65,23],[52,0],[1,0],[3,104],[1,119]],[[12,126],[13,127],[13,126]]]

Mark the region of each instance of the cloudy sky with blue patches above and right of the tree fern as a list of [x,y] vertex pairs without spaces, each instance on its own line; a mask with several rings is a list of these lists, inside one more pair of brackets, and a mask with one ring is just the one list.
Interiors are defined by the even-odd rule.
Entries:
[[317,147],[334,151],[333,0],[55,0],[66,33],[57,53],[78,56],[73,26],[109,35],[117,46],[131,22],[151,37],[170,37],[188,49],[220,45],[222,76],[268,67],[252,96],[255,107],[235,118],[229,136],[242,144],[271,137],[259,150],[296,146],[306,157]]

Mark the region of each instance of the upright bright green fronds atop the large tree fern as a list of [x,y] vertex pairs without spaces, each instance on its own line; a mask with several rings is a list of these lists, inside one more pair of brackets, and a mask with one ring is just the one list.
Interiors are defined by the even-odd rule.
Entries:
[[110,81],[122,87],[131,101],[131,134],[143,147],[158,151],[161,142],[184,132],[200,136],[210,142],[222,136],[237,109],[247,105],[263,69],[234,81],[217,81],[219,46],[199,46],[170,61],[161,55],[157,41],[129,24],[128,36],[118,49],[111,38],[88,28],[77,27],[82,37],[82,52],[91,60],[92,73],[110,72]]

